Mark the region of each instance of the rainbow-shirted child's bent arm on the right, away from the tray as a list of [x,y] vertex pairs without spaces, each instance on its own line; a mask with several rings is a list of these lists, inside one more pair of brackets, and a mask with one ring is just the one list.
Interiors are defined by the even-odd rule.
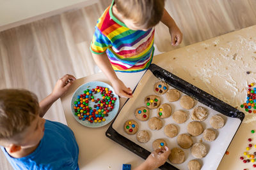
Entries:
[[169,32],[172,36],[172,45],[177,46],[182,41],[182,32],[180,32],[179,27],[176,25],[173,18],[169,15],[169,13],[164,9],[163,17],[161,18],[161,22],[169,28]]

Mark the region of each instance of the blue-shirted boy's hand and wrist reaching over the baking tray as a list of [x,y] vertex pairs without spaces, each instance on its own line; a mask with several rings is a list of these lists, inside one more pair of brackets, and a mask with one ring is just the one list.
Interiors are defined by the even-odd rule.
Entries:
[[140,164],[140,166],[136,167],[134,170],[153,170],[159,166],[162,166],[168,156],[170,155],[170,149],[165,146],[164,148],[158,148],[154,152],[152,152],[148,158]]

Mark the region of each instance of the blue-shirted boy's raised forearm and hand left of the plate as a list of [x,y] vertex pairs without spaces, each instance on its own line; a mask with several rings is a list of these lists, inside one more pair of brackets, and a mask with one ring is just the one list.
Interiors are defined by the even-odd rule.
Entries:
[[68,88],[70,85],[72,85],[74,80],[76,80],[74,76],[66,74],[57,81],[54,89],[52,90],[52,93],[39,103],[40,117],[44,117],[45,113],[47,110],[49,110],[49,108],[51,108],[52,104],[67,92]]

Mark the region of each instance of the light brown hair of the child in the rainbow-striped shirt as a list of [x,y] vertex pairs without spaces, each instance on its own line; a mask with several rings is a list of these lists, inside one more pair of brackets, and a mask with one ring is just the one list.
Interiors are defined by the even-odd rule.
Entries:
[[165,0],[115,0],[116,9],[134,24],[154,27],[163,16]]

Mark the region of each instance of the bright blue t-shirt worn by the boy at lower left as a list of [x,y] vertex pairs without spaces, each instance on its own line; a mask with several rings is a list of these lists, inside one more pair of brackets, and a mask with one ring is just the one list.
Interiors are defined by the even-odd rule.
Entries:
[[36,150],[26,157],[13,158],[1,146],[14,169],[79,169],[79,149],[74,133],[60,122],[45,121],[44,137]]

